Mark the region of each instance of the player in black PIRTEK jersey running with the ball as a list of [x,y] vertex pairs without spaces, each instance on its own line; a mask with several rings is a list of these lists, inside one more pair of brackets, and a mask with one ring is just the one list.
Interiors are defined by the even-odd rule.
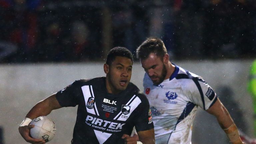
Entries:
[[[78,80],[63,90],[38,102],[19,127],[29,143],[44,144],[30,137],[30,121],[52,110],[78,105],[71,144],[154,144],[154,126],[149,102],[130,82],[133,57],[129,50],[110,50],[104,72],[106,77]],[[139,142],[130,137],[135,126]]]

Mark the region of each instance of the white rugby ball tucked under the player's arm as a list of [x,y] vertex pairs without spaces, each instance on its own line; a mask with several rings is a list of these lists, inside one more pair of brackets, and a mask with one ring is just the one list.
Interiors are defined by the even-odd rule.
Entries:
[[35,125],[30,129],[30,135],[35,139],[43,139],[48,142],[53,139],[56,133],[56,126],[52,119],[46,116],[39,116],[34,118],[30,124]]

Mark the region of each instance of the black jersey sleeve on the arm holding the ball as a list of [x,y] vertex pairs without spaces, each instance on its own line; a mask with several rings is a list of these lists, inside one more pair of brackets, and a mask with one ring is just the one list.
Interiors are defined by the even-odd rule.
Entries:
[[75,107],[78,104],[77,81],[56,93],[56,99],[62,107]]

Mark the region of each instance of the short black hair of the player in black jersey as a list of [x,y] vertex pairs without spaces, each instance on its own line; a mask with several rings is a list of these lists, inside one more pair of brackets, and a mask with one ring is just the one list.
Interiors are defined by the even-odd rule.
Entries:
[[125,47],[114,47],[108,52],[106,64],[110,65],[117,56],[126,57],[132,60],[133,63],[133,56],[132,53]]

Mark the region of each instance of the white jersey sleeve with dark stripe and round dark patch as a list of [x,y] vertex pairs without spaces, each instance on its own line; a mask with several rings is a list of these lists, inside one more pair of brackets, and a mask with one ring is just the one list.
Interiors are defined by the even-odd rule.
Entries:
[[217,100],[216,93],[201,77],[195,77],[188,88],[191,102],[204,110],[209,109]]

